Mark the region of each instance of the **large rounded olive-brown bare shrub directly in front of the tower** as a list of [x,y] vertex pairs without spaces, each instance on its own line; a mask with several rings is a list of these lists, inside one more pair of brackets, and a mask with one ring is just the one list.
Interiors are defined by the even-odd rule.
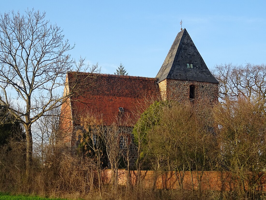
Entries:
[[152,168],[175,171],[181,190],[185,171],[191,172],[194,190],[192,171],[196,171],[200,196],[203,171],[215,169],[219,154],[212,107],[205,99],[197,99],[194,103],[172,101],[163,107],[160,122],[147,136]]

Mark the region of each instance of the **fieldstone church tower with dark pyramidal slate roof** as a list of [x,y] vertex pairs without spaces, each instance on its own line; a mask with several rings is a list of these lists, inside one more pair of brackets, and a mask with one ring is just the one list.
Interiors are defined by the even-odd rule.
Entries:
[[164,98],[194,101],[208,98],[218,102],[218,84],[184,28],[180,31],[159,72],[161,95]]

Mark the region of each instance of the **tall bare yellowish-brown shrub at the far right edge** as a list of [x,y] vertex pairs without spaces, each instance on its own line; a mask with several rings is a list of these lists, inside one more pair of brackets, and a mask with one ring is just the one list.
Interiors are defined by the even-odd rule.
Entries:
[[266,164],[266,118],[259,102],[238,97],[217,105],[216,133],[221,145],[220,162],[232,173],[239,198],[256,199]]

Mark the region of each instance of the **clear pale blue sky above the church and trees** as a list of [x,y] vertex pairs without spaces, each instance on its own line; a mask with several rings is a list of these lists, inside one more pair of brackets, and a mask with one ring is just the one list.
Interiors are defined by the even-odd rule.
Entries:
[[73,58],[113,74],[155,77],[186,28],[209,69],[216,64],[266,64],[266,1],[3,1],[0,12],[45,11],[76,44]]

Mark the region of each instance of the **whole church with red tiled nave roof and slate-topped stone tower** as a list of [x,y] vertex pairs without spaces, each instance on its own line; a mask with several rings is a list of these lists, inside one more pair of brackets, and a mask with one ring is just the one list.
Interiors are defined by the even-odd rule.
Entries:
[[155,78],[69,72],[64,93],[73,94],[61,108],[64,142],[75,147],[75,131],[82,117],[97,114],[105,126],[116,123],[130,132],[149,106],[149,99],[176,97],[194,102],[204,97],[218,102],[218,81],[184,29],[177,34]]

